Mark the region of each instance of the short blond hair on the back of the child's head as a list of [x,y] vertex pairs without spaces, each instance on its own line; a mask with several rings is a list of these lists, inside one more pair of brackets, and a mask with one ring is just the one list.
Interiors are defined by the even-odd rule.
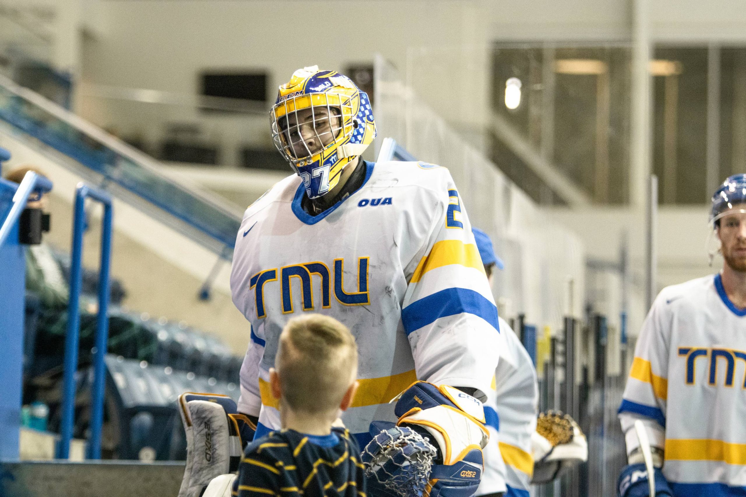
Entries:
[[336,412],[357,377],[355,338],[333,317],[294,317],[280,335],[275,368],[282,401],[292,411]]

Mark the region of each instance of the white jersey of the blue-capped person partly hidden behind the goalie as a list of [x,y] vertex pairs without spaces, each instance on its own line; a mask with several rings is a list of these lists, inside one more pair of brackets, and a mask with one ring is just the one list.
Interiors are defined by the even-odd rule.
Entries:
[[533,475],[531,434],[536,431],[539,384],[531,356],[503,318],[500,362],[495,388],[484,406],[489,443],[484,449],[484,474],[477,496],[507,492],[528,497]]

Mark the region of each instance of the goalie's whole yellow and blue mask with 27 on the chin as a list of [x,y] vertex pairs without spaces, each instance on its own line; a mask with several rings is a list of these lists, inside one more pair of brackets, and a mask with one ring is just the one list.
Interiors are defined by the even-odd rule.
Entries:
[[342,169],[376,136],[366,92],[336,71],[298,69],[269,113],[272,141],[303,180],[309,198],[327,194]]

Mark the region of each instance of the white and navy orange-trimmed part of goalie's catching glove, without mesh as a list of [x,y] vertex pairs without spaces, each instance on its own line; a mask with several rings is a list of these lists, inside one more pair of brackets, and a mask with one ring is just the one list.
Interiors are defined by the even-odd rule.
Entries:
[[415,382],[399,394],[395,414],[398,426],[412,427],[439,449],[425,495],[473,496],[489,441],[482,402],[454,387]]

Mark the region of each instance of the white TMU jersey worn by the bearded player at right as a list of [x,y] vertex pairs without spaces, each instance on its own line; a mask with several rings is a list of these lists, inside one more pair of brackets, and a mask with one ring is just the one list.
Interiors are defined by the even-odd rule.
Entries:
[[677,497],[746,495],[746,310],[720,275],[664,288],[642,326],[619,408],[627,452],[645,421]]

